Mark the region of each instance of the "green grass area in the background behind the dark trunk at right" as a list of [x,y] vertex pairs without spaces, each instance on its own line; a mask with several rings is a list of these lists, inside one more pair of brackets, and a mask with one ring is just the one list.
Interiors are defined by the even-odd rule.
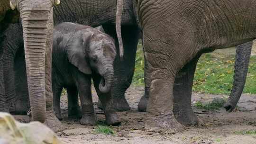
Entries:
[[[233,84],[235,55],[203,54],[197,63],[193,91],[230,94]],[[251,56],[244,93],[256,93],[256,56]]]

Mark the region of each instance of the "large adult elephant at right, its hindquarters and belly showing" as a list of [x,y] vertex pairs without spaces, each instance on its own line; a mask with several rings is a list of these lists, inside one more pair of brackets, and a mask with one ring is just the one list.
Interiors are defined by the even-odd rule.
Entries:
[[[195,67],[201,53],[255,39],[256,0],[136,1],[148,64],[146,72],[150,75],[147,111],[157,113],[147,125],[181,128],[183,122],[175,111],[183,109],[176,110],[175,103],[184,97],[175,96],[175,77],[186,78],[183,73]],[[183,111],[181,117],[190,117],[190,113]],[[196,116],[193,119],[197,121]]]

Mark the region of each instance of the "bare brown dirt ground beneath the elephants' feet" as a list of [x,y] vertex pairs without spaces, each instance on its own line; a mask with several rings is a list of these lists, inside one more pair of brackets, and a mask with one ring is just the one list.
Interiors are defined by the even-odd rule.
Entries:
[[[194,112],[200,118],[200,125],[185,127],[176,134],[168,134],[144,130],[144,121],[148,114],[137,112],[137,104],[143,93],[143,87],[133,86],[127,90],[126,98],[131,110],[118,112],[122,123],[120,126],[111,127],[115,130],[115,135],[96,134],[96,126],[82,126],[77,119],[69,119],[67,99],[64,96],[61,103],[64,130],[57,135],[66,144],[256,144],[256,135],[241,134],[249,130],[256,131],[256,95],[243,94],[238,110],[232,113],[223,108],[206,111],[193,106]],[[193,93],[192,104],[196,101],[207,103],[213,98],[222,97],[223,95]],[[93,101],[97,101],[94,90]],[[95,108],[97,119],[103,121],[102,111],[96,106]],[[25,117],[21,119],[27,119]]]

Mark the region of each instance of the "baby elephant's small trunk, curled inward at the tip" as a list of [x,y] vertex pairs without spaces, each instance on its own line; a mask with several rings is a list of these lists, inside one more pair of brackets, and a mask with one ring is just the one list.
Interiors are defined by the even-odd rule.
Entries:
[[107,65],[104,74],[101,77],[99,89],[102,93],[107,93],[111,90],[111,86],[114,78],[113,66]]

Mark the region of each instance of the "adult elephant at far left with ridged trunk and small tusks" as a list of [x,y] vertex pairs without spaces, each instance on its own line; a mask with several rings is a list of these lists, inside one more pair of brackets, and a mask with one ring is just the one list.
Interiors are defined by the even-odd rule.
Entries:
[[[49,67],[51,67],[53,5],[59,4],[59,2],[59,0],[0,1],[0,20],[1,26],[4,26],[3,28],[1,27],[0,35],[3,35],[4,31],[9,27],[9,22],[5,20],[12,19],[9,18],[9,13],[12,13],[10,12],[11,9],[17,8],[18,10],[13,17],[20,16],[22,23],[32,119],[43,123],[46,121],[47,115],[47,125],[57,125],[56,122],[58,122],[53,114],[52,102],[46,103],[46,99],[52,99],[51,69]],[[0,99],[5,103],[2,104],[3,107],[1,107],[0,111],[9,111],[4,92],[6,90],[1,88]]]

